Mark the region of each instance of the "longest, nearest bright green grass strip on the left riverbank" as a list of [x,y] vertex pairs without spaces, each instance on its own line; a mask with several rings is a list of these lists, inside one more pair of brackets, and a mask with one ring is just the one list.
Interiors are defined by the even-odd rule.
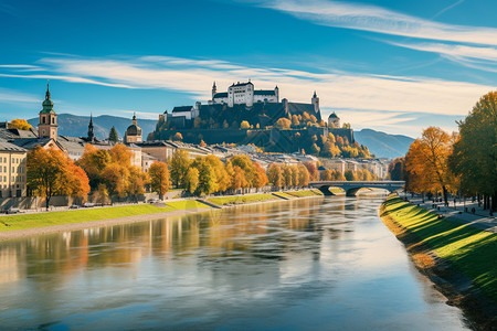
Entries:
[[[51,226],[68,223],[99,221],[126,216],[146,215],[155,213],[171,212],[189,209],[210,209],[210,206],[198,201],[173,201],[168,202],[165,207],[150,204],[126,205],[104,209],[87,209],[66,212],[36,213],[15,216],[0,217],[0,231],[12,231],[31,227]],[[10,226],[4,226],[9,224]]]

